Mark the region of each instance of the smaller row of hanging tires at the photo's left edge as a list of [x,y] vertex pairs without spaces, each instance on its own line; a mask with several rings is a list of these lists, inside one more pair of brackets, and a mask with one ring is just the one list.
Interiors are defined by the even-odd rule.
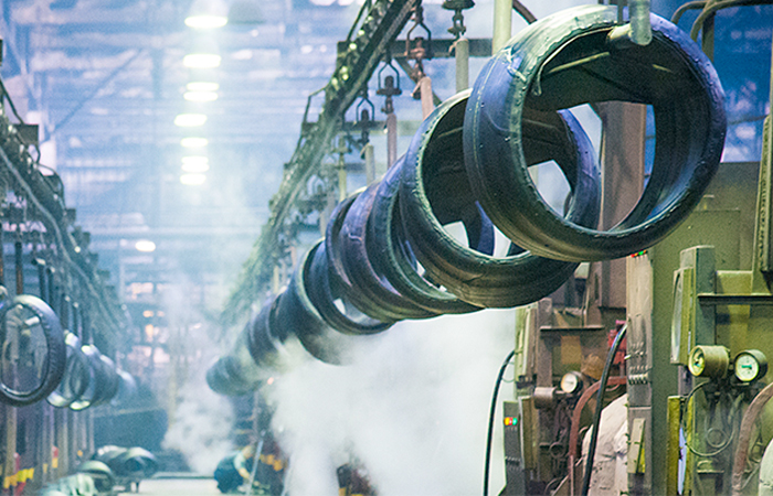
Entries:
[[93,344],[64,331],[43,300],[21,294],[0,301],[0,401],[24,407],[46,399],[57,408],[84,410],[123,402],[137,390],[130,374]]

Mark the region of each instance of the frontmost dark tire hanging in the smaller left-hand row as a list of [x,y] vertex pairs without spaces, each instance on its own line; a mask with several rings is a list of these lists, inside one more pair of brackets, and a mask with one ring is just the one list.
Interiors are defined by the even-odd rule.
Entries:
[[64,376],[67,348],[64,343],[64,332],[62,331],[62,325],[60,324],[59,317],[51,306],[36,296],[20,294],[12,300],[4,300],[0,303],[0,319],[3,321],[3,360],[6,359],[4,320],[8,313],[14,308],[18,308],[18,305],[28,309],[28,311],[39,319],[39,324],[43,335],[45,336],[46,343],[46,357],[43,377],[40,379],[38,387],[30,391],[19,391],[0,381],[0,401],[12,407],[25,407],[44,399],[60,385],[62,377]]

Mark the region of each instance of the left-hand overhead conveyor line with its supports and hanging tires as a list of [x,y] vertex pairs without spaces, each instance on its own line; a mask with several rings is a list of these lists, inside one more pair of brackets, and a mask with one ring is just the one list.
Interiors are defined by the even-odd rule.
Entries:
[[128,319],[109,273],[59,175],[31,154],[36,126],[0,89],[0,465],[3,494],[31,494],[93,451],[92,409],[126,405],[137,385],[112,358]]

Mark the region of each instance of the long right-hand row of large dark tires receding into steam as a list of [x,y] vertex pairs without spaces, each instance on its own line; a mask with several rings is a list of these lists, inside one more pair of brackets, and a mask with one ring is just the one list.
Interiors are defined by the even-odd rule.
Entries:
[[[671,233],[711,181],[727,122],[709,60],[670,22],[650,21],[646,46],[625,37],[616,7],[569,9],[521,31],[472,90],[424,120],[381,182],[337,206],[287,289],[210,368],[210,387],[255,389],[292,362],[296,338],[316,358],[343,364],[352,339],[403,319],[537,301],[578,262],[624,257]],[[636,206],[599,230],[595,152],[565,109],[611,100],[650,105],[656,145]],[[549,161],[570,186],[563,213],[530,177],[529,166]],[[464,225],[466,245],[444,229],[452,223]],[[494,226],[511,241],[505,257],[493,255]]]

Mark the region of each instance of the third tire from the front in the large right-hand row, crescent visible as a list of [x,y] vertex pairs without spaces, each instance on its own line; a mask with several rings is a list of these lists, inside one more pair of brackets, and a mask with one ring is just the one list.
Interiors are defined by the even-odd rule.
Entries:
[[419,273],[400,217],[398,193],[404,162],[405,157],[398,159],[377,190],[373,209],[368,219],[368,239],[374,246],[370,250],[371,265],[400,294],[426,310],[438,314],[464,314],[483,310],[459,300]]

